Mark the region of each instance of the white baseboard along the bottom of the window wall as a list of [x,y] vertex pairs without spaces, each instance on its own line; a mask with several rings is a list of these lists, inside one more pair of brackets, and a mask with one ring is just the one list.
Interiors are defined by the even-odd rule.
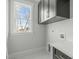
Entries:
[[40,47],[40,48],[29,49],[29,50],[25,50],[25,51],[21,51],[21,52],[16,52],[16,53],[10,54],[9,59],[16,59],[17,57],[27,56],[27,55],[36,53],[41,50],[45,51],[46,47]]

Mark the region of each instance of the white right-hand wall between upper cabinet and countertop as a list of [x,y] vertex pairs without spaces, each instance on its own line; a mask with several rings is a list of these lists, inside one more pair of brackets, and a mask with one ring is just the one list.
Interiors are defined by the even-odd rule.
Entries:
[[[52,32],[54,31],[54,32]],[[73,41],[73,21],[68,19],[47,25],[48,39],[58,39],[59,34],[65,33],[67,41]],[[55,38],[57,37],[57,38]]]

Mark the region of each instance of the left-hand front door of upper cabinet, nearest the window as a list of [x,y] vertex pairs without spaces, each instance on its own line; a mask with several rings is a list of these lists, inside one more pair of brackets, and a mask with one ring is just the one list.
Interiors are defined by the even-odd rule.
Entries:
[[48,0],[40,0],[39,6],[39,22],[44,22],[49,16],[48,16]]

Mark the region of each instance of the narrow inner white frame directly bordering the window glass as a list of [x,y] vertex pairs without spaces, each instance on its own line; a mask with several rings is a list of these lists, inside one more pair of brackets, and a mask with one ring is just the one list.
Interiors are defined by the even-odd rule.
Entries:
[[29,2],[27,2],[27,3],[24,3],[24,2],[17,2],[17,1],[15,1],[14,2],[14,24],[16,24],[16,25],[14,25],[14,32],[16,32],[16,33],[30,33],[30,32],[27,32],[27,31],[24,31],[24,32],[17,32],[17,20],[16,20],[16,4],[21,4],[21,5],[24,5],[24,6],[26,6],[26,7],[29,7],[30,8],[30,21],[31,21],[31,28],[30,28],[30,32],[32,32],[33,31],[33,27],[32,27],[32,22],[33,22],[33,4],[31,4],[31,3],[29,3]]

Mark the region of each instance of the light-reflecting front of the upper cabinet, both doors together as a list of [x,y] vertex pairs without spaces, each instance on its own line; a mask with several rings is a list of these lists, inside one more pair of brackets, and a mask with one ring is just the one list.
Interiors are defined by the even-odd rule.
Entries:
[[56,16],[56,0],[40,0],[39,22],[44,22]]

